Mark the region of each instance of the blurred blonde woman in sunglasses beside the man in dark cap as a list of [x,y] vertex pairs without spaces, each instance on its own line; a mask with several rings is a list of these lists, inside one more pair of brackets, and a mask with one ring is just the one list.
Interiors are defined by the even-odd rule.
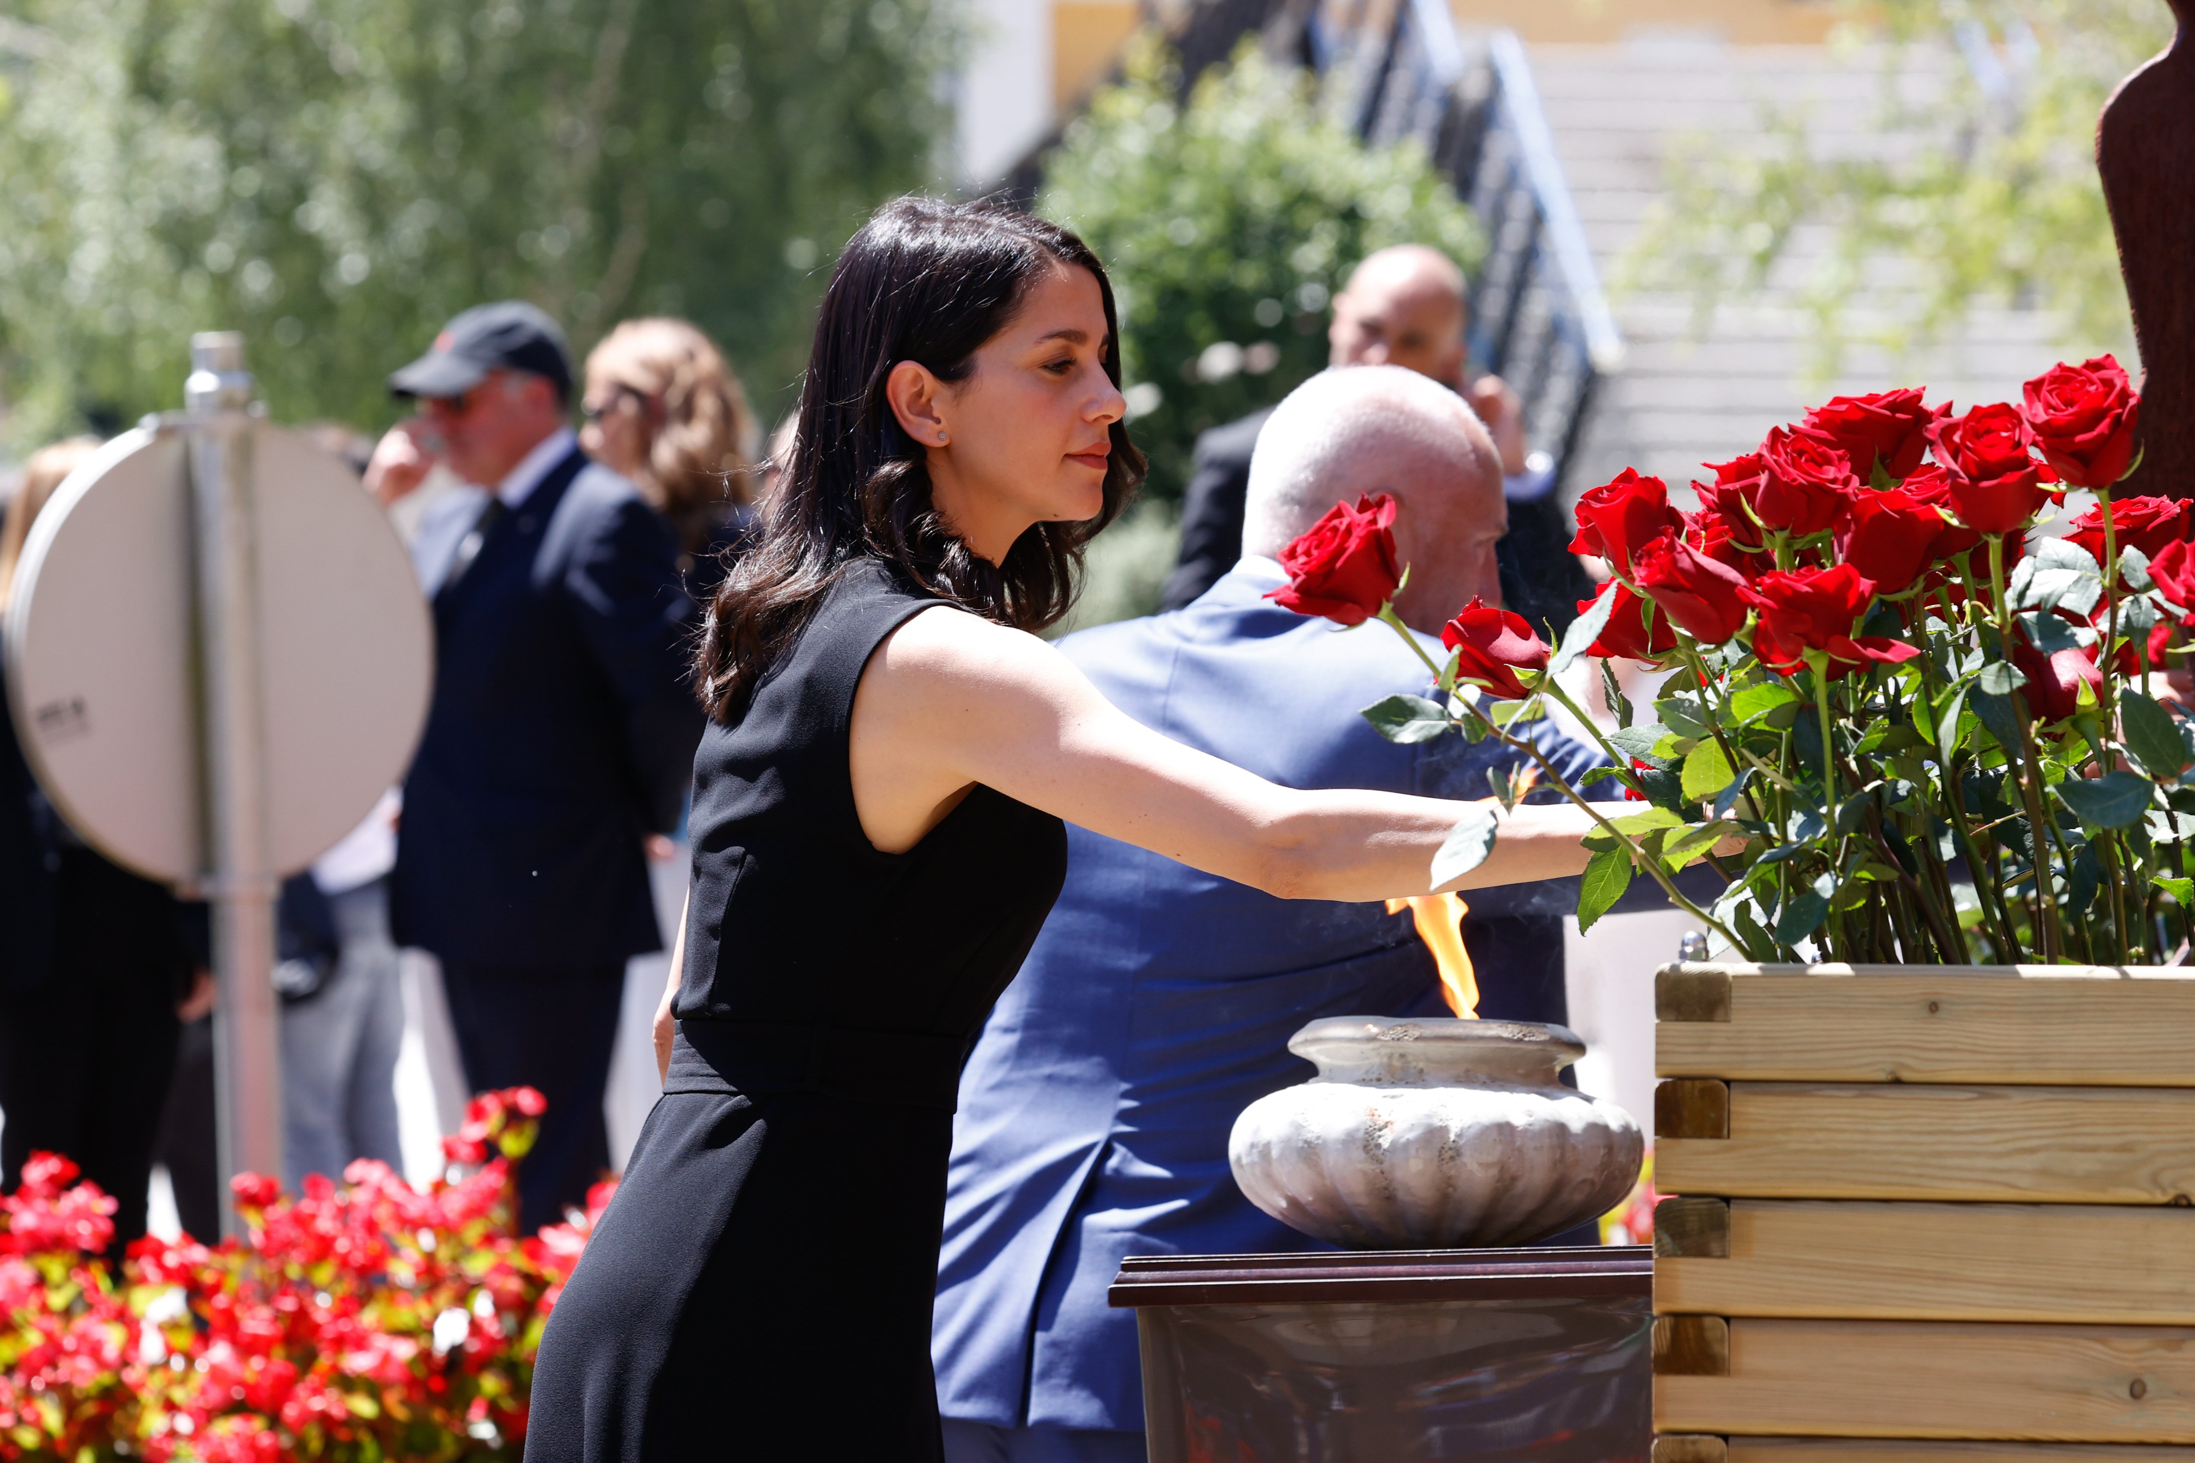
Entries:
[[753,520],[755,415],[724,353],[685,320],[626,320],[588,353],[579,412],[579,445],[669,520],[709,603]]

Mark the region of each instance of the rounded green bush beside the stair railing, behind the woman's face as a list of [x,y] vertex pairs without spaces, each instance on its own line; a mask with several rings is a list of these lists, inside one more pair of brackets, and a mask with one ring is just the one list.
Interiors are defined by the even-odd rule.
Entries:
[[1425,149],[1367,149],[1308,75],[1245,46],[1179,97],[1172,57],[1137,42],[1047,158],[1038,200],[1113,274],[1135,439],[1163,498],[1187,483],[1198,432],[1326,364],[1326,305],[1359,259],[1407,241],[1479,257]]

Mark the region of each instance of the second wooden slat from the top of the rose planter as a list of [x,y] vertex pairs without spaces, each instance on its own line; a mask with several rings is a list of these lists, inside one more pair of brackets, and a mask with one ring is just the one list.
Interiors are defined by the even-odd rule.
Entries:
[[1662,1138],[1655,1187],[1714,1198],[2188,1204],[2195,1092],[1734,1081],[1730,1136]]

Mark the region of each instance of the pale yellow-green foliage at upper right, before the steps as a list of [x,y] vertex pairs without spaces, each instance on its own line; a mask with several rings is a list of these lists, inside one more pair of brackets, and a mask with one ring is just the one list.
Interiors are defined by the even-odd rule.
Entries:
[[[1826,226],[1831,246],[1802,285],[1824,371],[1886,257],[1916,290],[1892,347],[1936,340],[1980,303],[2030,303],[2065,320],[2068,347],[2129,351],[2096,114],[2171,39],[2171,11],[2160,0],[1842,2],[1839,44],[1881,42],[1886,59],[1879,90],[1837,105],[1868,110],[1903,145],[1831,154],[1804,107],[1778,105],[1763,140],[1681,151],[1629,279],[1688,290],[1708,311],[1758,292],[1800,228]],[[1945,86],[1899,86],[1916,48],[1945,57]]]

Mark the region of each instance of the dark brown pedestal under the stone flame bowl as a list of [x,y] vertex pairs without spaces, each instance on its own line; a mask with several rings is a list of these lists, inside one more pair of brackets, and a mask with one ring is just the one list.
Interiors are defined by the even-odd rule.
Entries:
[[1128,1259],[1150,1463],[1644,1463],[1653,1250]]

